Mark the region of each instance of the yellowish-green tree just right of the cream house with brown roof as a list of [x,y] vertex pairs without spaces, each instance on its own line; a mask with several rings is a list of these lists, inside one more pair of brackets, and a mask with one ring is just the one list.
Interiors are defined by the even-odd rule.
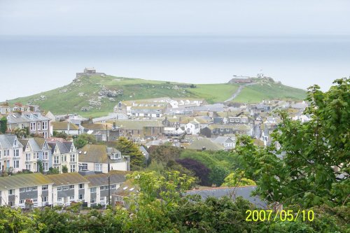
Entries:
[[145,157],[135,143],[125,138],[124,136],[121,136],[117,141],[116,148],[120,150],[122,155],[130,156],[130,167],[132,170],[144,167]]

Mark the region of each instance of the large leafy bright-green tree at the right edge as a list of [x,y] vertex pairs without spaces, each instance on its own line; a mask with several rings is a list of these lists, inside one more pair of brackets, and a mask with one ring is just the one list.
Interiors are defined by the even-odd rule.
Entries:
[[[239,140],[240,162],[265,199],[304,207],[349,204],[349,78],[334,83],[328,92],[309,87],[304,111],[309,122],[279,112],[282,122],[272,134],[279,150],[256,148],[247,137]],[[276,157],[283,152],[283,160]]]

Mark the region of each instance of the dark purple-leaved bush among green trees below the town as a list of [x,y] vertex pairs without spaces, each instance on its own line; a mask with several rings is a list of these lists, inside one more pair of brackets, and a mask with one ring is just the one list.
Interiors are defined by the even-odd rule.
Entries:
[[212,185],[212,183],[209,181],[210,169],[201,162],[193,159],[176,160],[176,162],[181,164],[181,166],[185,167],[186,169],[193,171],[195,173],[195,176],[199,178],[200,185]]

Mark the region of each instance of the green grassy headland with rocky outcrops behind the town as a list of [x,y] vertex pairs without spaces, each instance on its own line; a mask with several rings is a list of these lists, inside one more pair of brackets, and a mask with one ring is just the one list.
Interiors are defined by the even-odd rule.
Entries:
[[[82,76],[64,87],[9,102],[36,104],[55,114],[79,113],[87,117],[97,117],[113,111],[113,107],[120,100],[172,97],[201,98],[214,103],[230,98],[238,88],[239,84],[227,83],[191,85],[115,76]],[[270,82],[244,86],[233,101],[258,102],[262,99],[304,97],[304,90]]]

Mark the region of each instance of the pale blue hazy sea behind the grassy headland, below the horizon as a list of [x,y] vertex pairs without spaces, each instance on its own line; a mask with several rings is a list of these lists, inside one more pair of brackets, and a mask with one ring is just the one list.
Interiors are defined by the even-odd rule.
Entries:
[[186,83],[264,73],[325,91],[350,75],[350,36],[0,36],[0,101],[69,84],[85,67]]

